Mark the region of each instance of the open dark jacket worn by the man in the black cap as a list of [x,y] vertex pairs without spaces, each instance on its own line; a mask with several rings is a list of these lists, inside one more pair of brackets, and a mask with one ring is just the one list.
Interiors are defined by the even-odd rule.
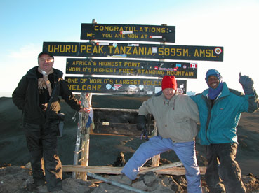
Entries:
[[20,83],[18,83],[18,87],[16,87],[13,92],[13,103],[23,111],[24,122],[44,124],[46,120],[58,119],[58,112],[60,111],[58,96],[62,96],[62,99],[64,99],[74,110],[80,110],[81,106],[79,101],[69,90],[65,80],[62,79],[62,71],[53,69],[54,82],[58,83],[58,87],[55,94],[53,94],[53,101],[49,112],[44,112],[39,106],[38,77],[36,76],[37,69],[38,66],[30,69],[27,74],[22,77]]

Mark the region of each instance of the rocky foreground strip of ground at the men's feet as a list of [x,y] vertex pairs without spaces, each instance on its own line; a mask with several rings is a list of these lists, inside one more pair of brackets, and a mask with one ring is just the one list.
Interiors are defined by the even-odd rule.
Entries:
[[[109,175],[98,175],[109,179]],[[203,192],[209,192],[204,176],[202,178]],[[259,178],[249,173],[242,176],[246,192],[259,193]],[[39,187],[37,190],[29,190],[29,184],[33,183],[32,171],[26,166],[4,165],[0,169],[0,192],[4,193],[46,193],[46,185]],[[71,173],[64,173],[62,187],[65,193],[123,193],[133,192],[121,187],[104,183],[95,178],[89,178],[87,181],[73,179]],[[157,173],[145,173],[133,181],[131,187],[145,192],[187,192],[187,183],[185,176],[158,175]]]

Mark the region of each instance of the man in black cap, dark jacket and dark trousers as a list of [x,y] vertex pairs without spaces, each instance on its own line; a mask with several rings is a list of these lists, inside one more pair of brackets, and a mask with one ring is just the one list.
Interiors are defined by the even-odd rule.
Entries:
[[[39,66],[22,77],[13,92],[13,103],[23,114],[23,127],[32,164],[34,187],[44,185],[45,178],[50,192],[62,192],[62,165],[57,152],[58,113],[62,96],[71,108],[87,112],[62,79],[62,71],[53,69],[54,57],[41,52]],[[48,106],[52,98],[51,105]],[[44,159],[44,171],[41,159]]]

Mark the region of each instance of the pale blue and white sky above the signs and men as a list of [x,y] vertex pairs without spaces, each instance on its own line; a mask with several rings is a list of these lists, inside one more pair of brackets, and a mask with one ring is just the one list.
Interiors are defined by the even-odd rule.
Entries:
[[[0,1],[0,96],[11,96],[20,78],[37,65],[44,41],[79,42],[81,23],[167,24],[176,27],[175,45],[224,47],[224,62],[198,63],[198,77],[187,79],[187,91],[207,88],[208,69],[242,91],[239,72],[251,76],[259,90],[259,1]],[[65,73],[65,57],[54,67]],[[195,62],[195,61],[182,61]]]

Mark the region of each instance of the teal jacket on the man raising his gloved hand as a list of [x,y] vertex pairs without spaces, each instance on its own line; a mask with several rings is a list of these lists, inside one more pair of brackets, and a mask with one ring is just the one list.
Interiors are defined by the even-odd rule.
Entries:
[[237,125],[242,112],[253,113],[258,110],[258,95],[244,95],[232,90],[223,83],[223,90],[215,99],[211,108],[211,100],[207,97],[208,89],[201,94],[190,96],[199,109],[201,128],[199,142],[201,145],[211,143],[237,143]]

